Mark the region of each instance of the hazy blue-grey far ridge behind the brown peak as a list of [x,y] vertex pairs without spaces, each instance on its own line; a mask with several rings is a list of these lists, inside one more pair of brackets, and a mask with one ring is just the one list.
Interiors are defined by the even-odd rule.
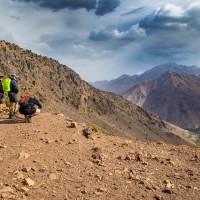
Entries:
[[186,66],[178,65],[176,63],[166,63],[155,66],[140,75],[123,75],[117,79],[113,79],[110,81],[97,81],[91,84],[104,91],[109,91],[123,95],[124,92],[132,88],[134,85],[156,80],[164,72],[169,70],[183,75],[200,75],[200,68],[197,66]]

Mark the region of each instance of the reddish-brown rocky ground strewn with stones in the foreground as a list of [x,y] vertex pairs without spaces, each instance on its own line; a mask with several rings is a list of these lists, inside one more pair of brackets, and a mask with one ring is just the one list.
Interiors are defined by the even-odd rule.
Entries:
[[93,132],[62,114],[0,117],[0,199],[199,200],[200,150]]

